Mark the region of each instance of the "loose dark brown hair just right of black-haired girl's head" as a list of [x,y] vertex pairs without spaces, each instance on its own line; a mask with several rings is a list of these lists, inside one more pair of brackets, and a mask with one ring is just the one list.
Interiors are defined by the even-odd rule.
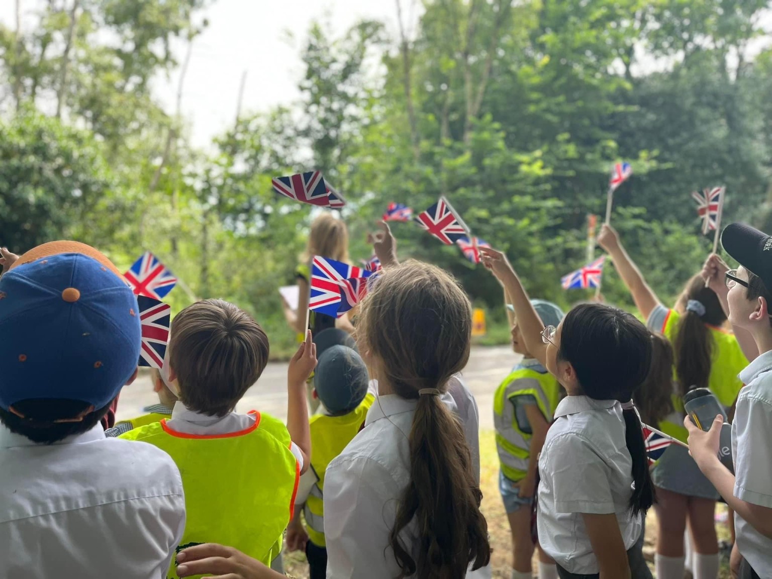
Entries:
[[657,426],[673,410],[673,348],[662,334],[652,334],[652,364],[632,399],[641,419]]

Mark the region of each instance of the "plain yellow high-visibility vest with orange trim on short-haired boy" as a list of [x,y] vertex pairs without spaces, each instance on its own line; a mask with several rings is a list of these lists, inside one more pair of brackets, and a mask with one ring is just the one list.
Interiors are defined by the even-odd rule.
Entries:
[[[283,422],[252,411],[255,424],[225,435],[175,432],[166,420],[120,438],[149,442],[177,463],[187,521],[178,550],[229,545],[269,565],[292,518],[300,464]],[[278,540],[277,540],[278,539]],[[178,577],[172,560],[168,577]]]

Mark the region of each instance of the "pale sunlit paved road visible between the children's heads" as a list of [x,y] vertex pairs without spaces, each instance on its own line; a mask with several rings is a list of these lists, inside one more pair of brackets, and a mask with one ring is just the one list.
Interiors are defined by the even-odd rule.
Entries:
[[[476,347],[464,370],[466,384],[472,390],[480,409],[480,428],[493,428],[493,392],[517,361],[509,347]],[[268,364],[257,384],[249,388],[236,407],[239,411],[253,408],[286,420],[286,363]],[[117,418],[132,418],[142,414],[142,408],[157,404],[147,374],[120,393]]]

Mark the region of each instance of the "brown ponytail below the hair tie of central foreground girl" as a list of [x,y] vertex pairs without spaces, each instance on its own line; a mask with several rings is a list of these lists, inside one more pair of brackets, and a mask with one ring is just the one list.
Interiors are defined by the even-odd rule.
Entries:
[[[463,579],[490,560],[488,526],[479,511],[482,493],[472,472],[464,432],[437,395],[418,398],[409,437],[410,483],[389,535],[402,574],[426,579]],[[399,533],[418,524],[418,560]]]

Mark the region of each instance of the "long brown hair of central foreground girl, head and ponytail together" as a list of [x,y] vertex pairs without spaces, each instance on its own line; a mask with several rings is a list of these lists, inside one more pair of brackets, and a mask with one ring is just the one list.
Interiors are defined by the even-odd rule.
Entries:
[[[442,269],[408,261],[384,269],[364,300],[357,327],[361,351],[378,378],[401,398],[418,400],[409,436],[410,482],[398,503],[389,544],[401,577],[462,579],[470,563],[490,559],[482,493],[459,418],[440,398],[469,360],[472,308]],[[399,533],[416,520],[418,545]],[[418,554],[413,559],[411,551]]]

